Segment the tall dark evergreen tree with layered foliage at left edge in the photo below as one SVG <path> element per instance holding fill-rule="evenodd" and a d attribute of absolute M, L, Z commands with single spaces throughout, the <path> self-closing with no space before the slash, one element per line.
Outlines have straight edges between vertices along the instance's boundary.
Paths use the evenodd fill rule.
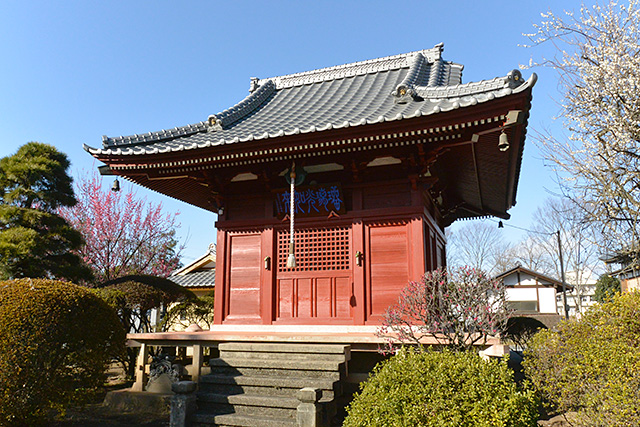
<path fill-rule="evenodd" d="M 0 159 L 0 279 L 91 278 L 74 253 L 82 235 L 56 213 L 76 204 L 69 165 L 65 154 L 39 142 Z"/>

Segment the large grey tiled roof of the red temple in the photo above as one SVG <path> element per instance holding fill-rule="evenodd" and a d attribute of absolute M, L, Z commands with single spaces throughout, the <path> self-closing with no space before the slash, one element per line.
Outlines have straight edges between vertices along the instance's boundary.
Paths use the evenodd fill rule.
<path fill-rule="evenodd" d="M 93 155 L 142 155 L 247 143 L 437 114 L 530 88 L 520 72 L 462 84 L 462 65 L 442 60 L 443 45 L 402 55 L 268 79 L 205 121 L 142 135 L 103 137 Z"/>

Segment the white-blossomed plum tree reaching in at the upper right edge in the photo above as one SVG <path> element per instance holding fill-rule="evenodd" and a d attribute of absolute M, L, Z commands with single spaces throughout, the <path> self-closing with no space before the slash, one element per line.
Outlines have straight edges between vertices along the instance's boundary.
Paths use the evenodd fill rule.
<path fill-rule="evenodd" d="M 558 72 L 568 138 L 540 135 L 564 192 L 605 236 L 606 250 L 640 250 L 640 1 L 542 15 L 530 34 L 557 55 L 537 61 Z"/>

